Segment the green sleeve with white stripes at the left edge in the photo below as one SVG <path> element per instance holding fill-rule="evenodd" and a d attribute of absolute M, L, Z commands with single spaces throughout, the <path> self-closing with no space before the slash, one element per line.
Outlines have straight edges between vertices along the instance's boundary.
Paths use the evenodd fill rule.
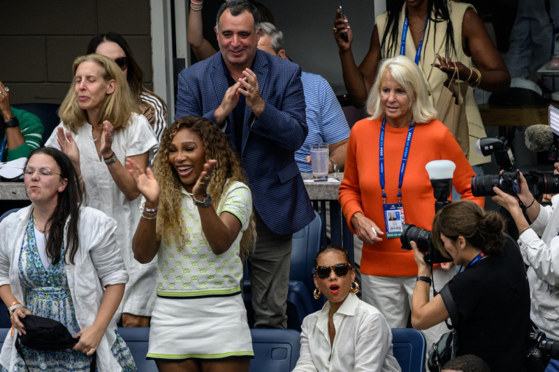
<path fill-rule="evenodd" d="M 41 119 L 31 114 L 31 112 L 19 110 L 15 107 L 10 108 L 13 116 L 17 117 L 17 120 L 20 121 L 20 131 L 25 142 L 15 149 L 8 149 L 8 161 L 17 158 L 27 158 L 31 151 L 41 147 L 43 144 L 43 131 L 45 131 Z"/>

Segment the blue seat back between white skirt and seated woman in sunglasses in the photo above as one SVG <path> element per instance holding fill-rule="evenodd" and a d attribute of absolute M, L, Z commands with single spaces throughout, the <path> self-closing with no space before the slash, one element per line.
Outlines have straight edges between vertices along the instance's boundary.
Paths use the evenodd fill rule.
<path fill-rule="evenodd" d="M 250 372 L 289 372 L 295 368 L 299 359 L 299 332 L 293 329 L 251 329 L 250 334 L 254 350 Z"/>

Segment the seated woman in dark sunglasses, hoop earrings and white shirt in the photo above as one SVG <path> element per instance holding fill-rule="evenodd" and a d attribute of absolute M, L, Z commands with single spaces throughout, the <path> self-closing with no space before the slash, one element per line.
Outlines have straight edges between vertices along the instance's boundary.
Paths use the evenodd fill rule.
<path fill-rule="evenodd" d="M 303 320 L 300 357 L 293 372 L 400 371 L 392 354 L 392 333 L 377 308 L 358 299 L 355 269 L 340 246 L 314 258 L 314 297 L 322 310 Z"/>

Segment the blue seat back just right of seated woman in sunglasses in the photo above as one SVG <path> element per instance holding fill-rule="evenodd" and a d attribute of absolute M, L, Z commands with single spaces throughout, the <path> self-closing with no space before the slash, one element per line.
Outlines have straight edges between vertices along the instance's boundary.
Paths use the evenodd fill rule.
<path fill-rule="evenodd" d="M 425 370 L 427 342 L 421 332 L 412 328 L 393 328 L 392 350 L 402 372 Z"/>

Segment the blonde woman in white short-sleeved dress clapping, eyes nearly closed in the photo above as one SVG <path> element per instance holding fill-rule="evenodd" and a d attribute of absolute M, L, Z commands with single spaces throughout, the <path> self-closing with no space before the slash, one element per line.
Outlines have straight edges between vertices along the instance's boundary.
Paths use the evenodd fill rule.
<path fill-rule="evenodd" d="M 156 262 L 133 258 L 132 237 L 140 221 L 140 191 L 124 167 L 126 159 L 147 167 L 157 146 L 120 68 L 100 54 L 78 57 L 74 80 L 59 109 L 61 124 L 45 146 L 68 155 L 85 186 L 85 204 L 118 222 L 117 244 L 130 276 L 122 306 L 124 327 L 147 327 L 155 301 Z"/>

